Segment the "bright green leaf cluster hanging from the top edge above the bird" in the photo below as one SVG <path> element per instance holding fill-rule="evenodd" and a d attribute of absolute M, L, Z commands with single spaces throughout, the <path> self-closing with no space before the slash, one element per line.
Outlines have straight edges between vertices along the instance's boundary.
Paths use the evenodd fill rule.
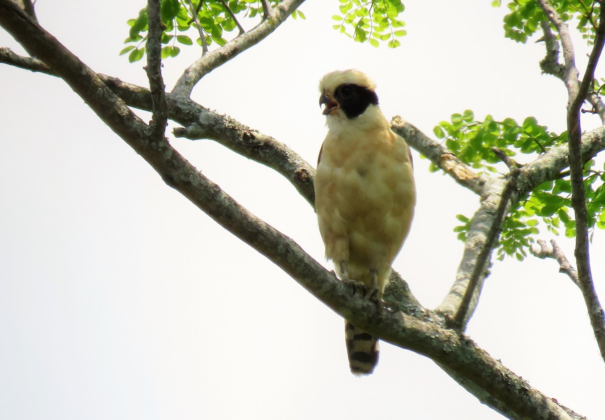
<path fill-rule="evenodd" d="M 333 15 L 338 21 L 333 28 L 358 42 L 369 42 L 378 47 L 379 41 L 388 41 L 389 48 L 401 45 L 398 37 L 404 36 L 405 22 L 399 14 L 405 10 L 401 0 L 339 0 L 341 15 Z M 349 30 L 351 33 L 349 33 Z"/>

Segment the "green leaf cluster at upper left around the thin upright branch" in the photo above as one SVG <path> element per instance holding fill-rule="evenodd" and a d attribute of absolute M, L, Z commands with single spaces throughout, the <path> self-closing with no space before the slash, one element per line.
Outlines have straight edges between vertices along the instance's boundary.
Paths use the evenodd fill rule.
<path fill-rule="evenodd" d="M 270 0 L 270 5 L 278 4 L 279 0 Z M 198 45 L 224 45 L 227 39 L 225 33 L 238 27 L 235 16 L 256 18 L 262 15 L 263 6 L 260 0 L 162 0 L 162 58 L 176 57 L 181 45 L 193 45 L 194 40 L 189 30 L 195 30 L 194 37 Z M 301 12 L 296 13 L 304 19 Z M 293 16 L 296 17 L 296 16 Z M 136 19 L 129 19 L 130 30 L 125 44 L 130 44 L 120 51 L 120 55 L 128 54 L 128 61 L 139 61 L 145 56 L 149 17 L 147 8 L 139 11 Z M 203 38 L 202 38 L 203 37 Z"/>

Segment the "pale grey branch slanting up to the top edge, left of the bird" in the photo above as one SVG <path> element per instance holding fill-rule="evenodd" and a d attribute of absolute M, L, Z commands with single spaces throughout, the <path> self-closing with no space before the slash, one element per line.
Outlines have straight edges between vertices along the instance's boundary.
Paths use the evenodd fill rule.
<path fill-rule="evenodd" d="M 286 0 L 280 5 L 270 10 L 269 18 L 261 22 L 260 25 L 247 31 L 241 36 L 227 42 L 220 48 L 205 54 L 194 62 L 183 75 L 178 79 L 172 93 L 179 96 L 189 96 L 191 91 L 201 80 L 202 77 L 210 73 L 215 68 L 231 60 L 233 57 L 246 51 L 258 42 L 263 41 L 269 34 L 277 29 L 288 16 L 292 14 L 304 0 Z"/>

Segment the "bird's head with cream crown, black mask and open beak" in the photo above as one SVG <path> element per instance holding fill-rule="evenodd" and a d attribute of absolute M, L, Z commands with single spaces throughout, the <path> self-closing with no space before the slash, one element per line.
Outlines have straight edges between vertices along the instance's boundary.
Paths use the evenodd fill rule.
<path fill-rule="evenodd" d="M 354 119 L 370 105 L 378 105 L 375 88 L 376 84 L 361 71 L 332 71 L 319 81 L 319 106 L 325 105 L 325 116 Z"/>

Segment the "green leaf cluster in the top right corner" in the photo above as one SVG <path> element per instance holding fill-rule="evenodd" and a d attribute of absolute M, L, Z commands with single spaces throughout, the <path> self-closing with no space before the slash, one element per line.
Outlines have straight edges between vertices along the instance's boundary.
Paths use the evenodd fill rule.
<path fill-rule="evenodd" d="M 499 7 L 502 0 L 492 1 Z M 589 0 L 551 0 L 552 6 L 564 22 L 577 21 L 576 28 L 589 45 L 594 44 L 595 28 L 600 11 L 599 1 Z M 510 13 L 504 17 L 506 38 L 525 44 L 540 27 L 540 22 L 548 21 L 536 0 L 515 0 L 509 2 Z"/>

